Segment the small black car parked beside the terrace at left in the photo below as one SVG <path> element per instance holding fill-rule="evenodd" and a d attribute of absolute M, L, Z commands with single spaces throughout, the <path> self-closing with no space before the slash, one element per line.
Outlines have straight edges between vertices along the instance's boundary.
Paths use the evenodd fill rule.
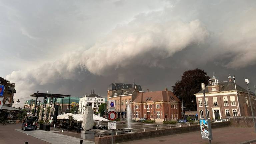
<path fill-rule="evenodd" d="M 24 131 L 29 129 L 36 130 L 37 122 L 38 122 L 37 116 L 29 116 L 25 119 L 24 123 L 22 123 L 21 129 Z"/>

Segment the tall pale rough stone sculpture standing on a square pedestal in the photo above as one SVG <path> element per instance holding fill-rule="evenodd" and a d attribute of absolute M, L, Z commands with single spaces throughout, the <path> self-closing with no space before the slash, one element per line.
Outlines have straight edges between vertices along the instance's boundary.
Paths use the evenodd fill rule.
<path fill-rule="evenodd" d="M 83 116 L 83 129 L 85 131 L 91 130 L 94 126 L 93 122 L 93 110 L 90 103 L 85 106 L 85 112 Z"/>

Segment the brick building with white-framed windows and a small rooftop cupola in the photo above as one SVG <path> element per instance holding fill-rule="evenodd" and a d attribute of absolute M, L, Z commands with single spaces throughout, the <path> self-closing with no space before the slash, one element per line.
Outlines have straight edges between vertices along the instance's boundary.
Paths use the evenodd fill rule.
<path fill-rule="evenodd" d="M 194 95 L 197 101 L 198 118 L 203 119 L 205 116 L 203 92 L 201 90 Z M 251 93 L 251 95 L 254 98 L 252 102 L 255 102 L 254 93 Z M 223 119 L 229 116 L 252 116 L 247 90 L 237 84 L 235 85 L 231 76 L 228 77 L 228 81 L 219 82 L 213 75 L 209 79 L 209 85 L 205 87 L 205 97 L 208 118 L 210 119 Z"/>

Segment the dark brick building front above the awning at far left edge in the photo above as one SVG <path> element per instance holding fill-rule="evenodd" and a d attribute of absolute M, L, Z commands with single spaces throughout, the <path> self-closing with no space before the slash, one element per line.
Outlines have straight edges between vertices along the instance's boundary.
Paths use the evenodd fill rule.
<path fill-rule="evenodd" d="M 12 106 L 14 103 L 14 93 L 16 93 L 16 90 L 14 89 L 15 83 L 11 83 L 10 81 L 0 77 L 0 85 L 4 85 L 3 106 Z"/>

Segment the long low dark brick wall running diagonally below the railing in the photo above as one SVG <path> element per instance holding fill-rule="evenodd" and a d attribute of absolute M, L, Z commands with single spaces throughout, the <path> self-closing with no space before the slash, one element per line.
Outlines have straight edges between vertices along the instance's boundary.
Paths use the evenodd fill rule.
<path fill-rule="evenodd" d="M 230 126 L 230 121 L 212 123 L 211 126 L 212 128 Z M 187 132 L 194 132 L 194 131 L 200 131 L 200 126 L 192 125 L 192 126 L 186 126 L 186 127 L 176 127 L 171 129 L 137 132 L 132 134 L 121 134 L 121 135 L 113 136 L 113 143 L 120 143 L 125 141 L 132 141 L 132 140 L 138 140 L 138 139 L 144 139 L 144 138 L 152 138 L 152 137 L 159 137 L 159 136 L 173 135 L 173 134 L 187 133 Z M 111 144 L 111 135 L 104 136 L 104 137 L 95 137 L 95 144 Z"/>

